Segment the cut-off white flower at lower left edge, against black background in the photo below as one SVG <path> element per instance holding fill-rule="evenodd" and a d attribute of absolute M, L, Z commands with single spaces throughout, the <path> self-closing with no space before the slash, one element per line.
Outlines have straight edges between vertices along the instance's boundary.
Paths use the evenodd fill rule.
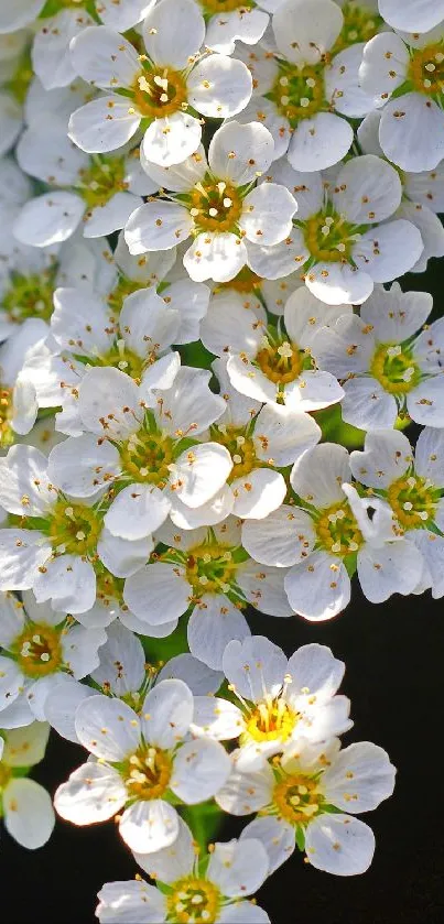
<path fill-rule="evenodd" d="M 46 790 L 23 776 L 24 768 L 43 760 L 48 733 L 48 725 L 33 722 L 0 737 L 0 814 L 11 837 L 29 850 L 46 844 L 55 822 Z"/>

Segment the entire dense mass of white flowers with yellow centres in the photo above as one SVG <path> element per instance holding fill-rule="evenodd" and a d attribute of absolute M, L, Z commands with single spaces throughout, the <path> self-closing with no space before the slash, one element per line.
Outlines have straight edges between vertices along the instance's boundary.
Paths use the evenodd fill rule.
<path fill-rule="evenodd" d="M 101 924 L 371 863 L 396 770 L 255 611 L 444 596 L 444 319 L 397 281 L 444 257 L 443 108 L 442 0 L 1 4 L 0 817 L 42 846 L 83 747 L 54 808 L 147 877 Z"/>

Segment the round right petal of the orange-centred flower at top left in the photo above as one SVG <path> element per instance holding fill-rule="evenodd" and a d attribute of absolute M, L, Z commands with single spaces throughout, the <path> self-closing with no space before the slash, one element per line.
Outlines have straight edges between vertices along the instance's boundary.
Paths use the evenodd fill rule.
<path fill-rule="evenodd" d="M 193 68 L 187 86 L 189 102 L 198 112 L 207 118 L 227 119 L 249 102 L 252 79 L 241 61 L 217 54 Z"/>

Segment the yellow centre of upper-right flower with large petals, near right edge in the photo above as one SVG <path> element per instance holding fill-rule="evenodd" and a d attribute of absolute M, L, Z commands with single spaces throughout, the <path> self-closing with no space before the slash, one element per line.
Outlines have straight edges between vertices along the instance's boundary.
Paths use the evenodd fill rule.
<path fill-rule="evenodd" d="M 334 210 L 320 211 L 302 226 L 306 247 L 318 263 L 346 263 L 357 240 L 353 226 Z"/>

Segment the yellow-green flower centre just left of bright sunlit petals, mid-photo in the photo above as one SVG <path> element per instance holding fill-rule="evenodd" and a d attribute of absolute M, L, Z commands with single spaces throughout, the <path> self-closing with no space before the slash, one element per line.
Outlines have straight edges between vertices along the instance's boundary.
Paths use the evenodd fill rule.
<path fill-rule="evenodd" d="M 123 445 L 120 458 L 123 471 L 134 481 L 164 488 L 173 464 L 173 441 L 155 430 L 140 430 Z"/>

